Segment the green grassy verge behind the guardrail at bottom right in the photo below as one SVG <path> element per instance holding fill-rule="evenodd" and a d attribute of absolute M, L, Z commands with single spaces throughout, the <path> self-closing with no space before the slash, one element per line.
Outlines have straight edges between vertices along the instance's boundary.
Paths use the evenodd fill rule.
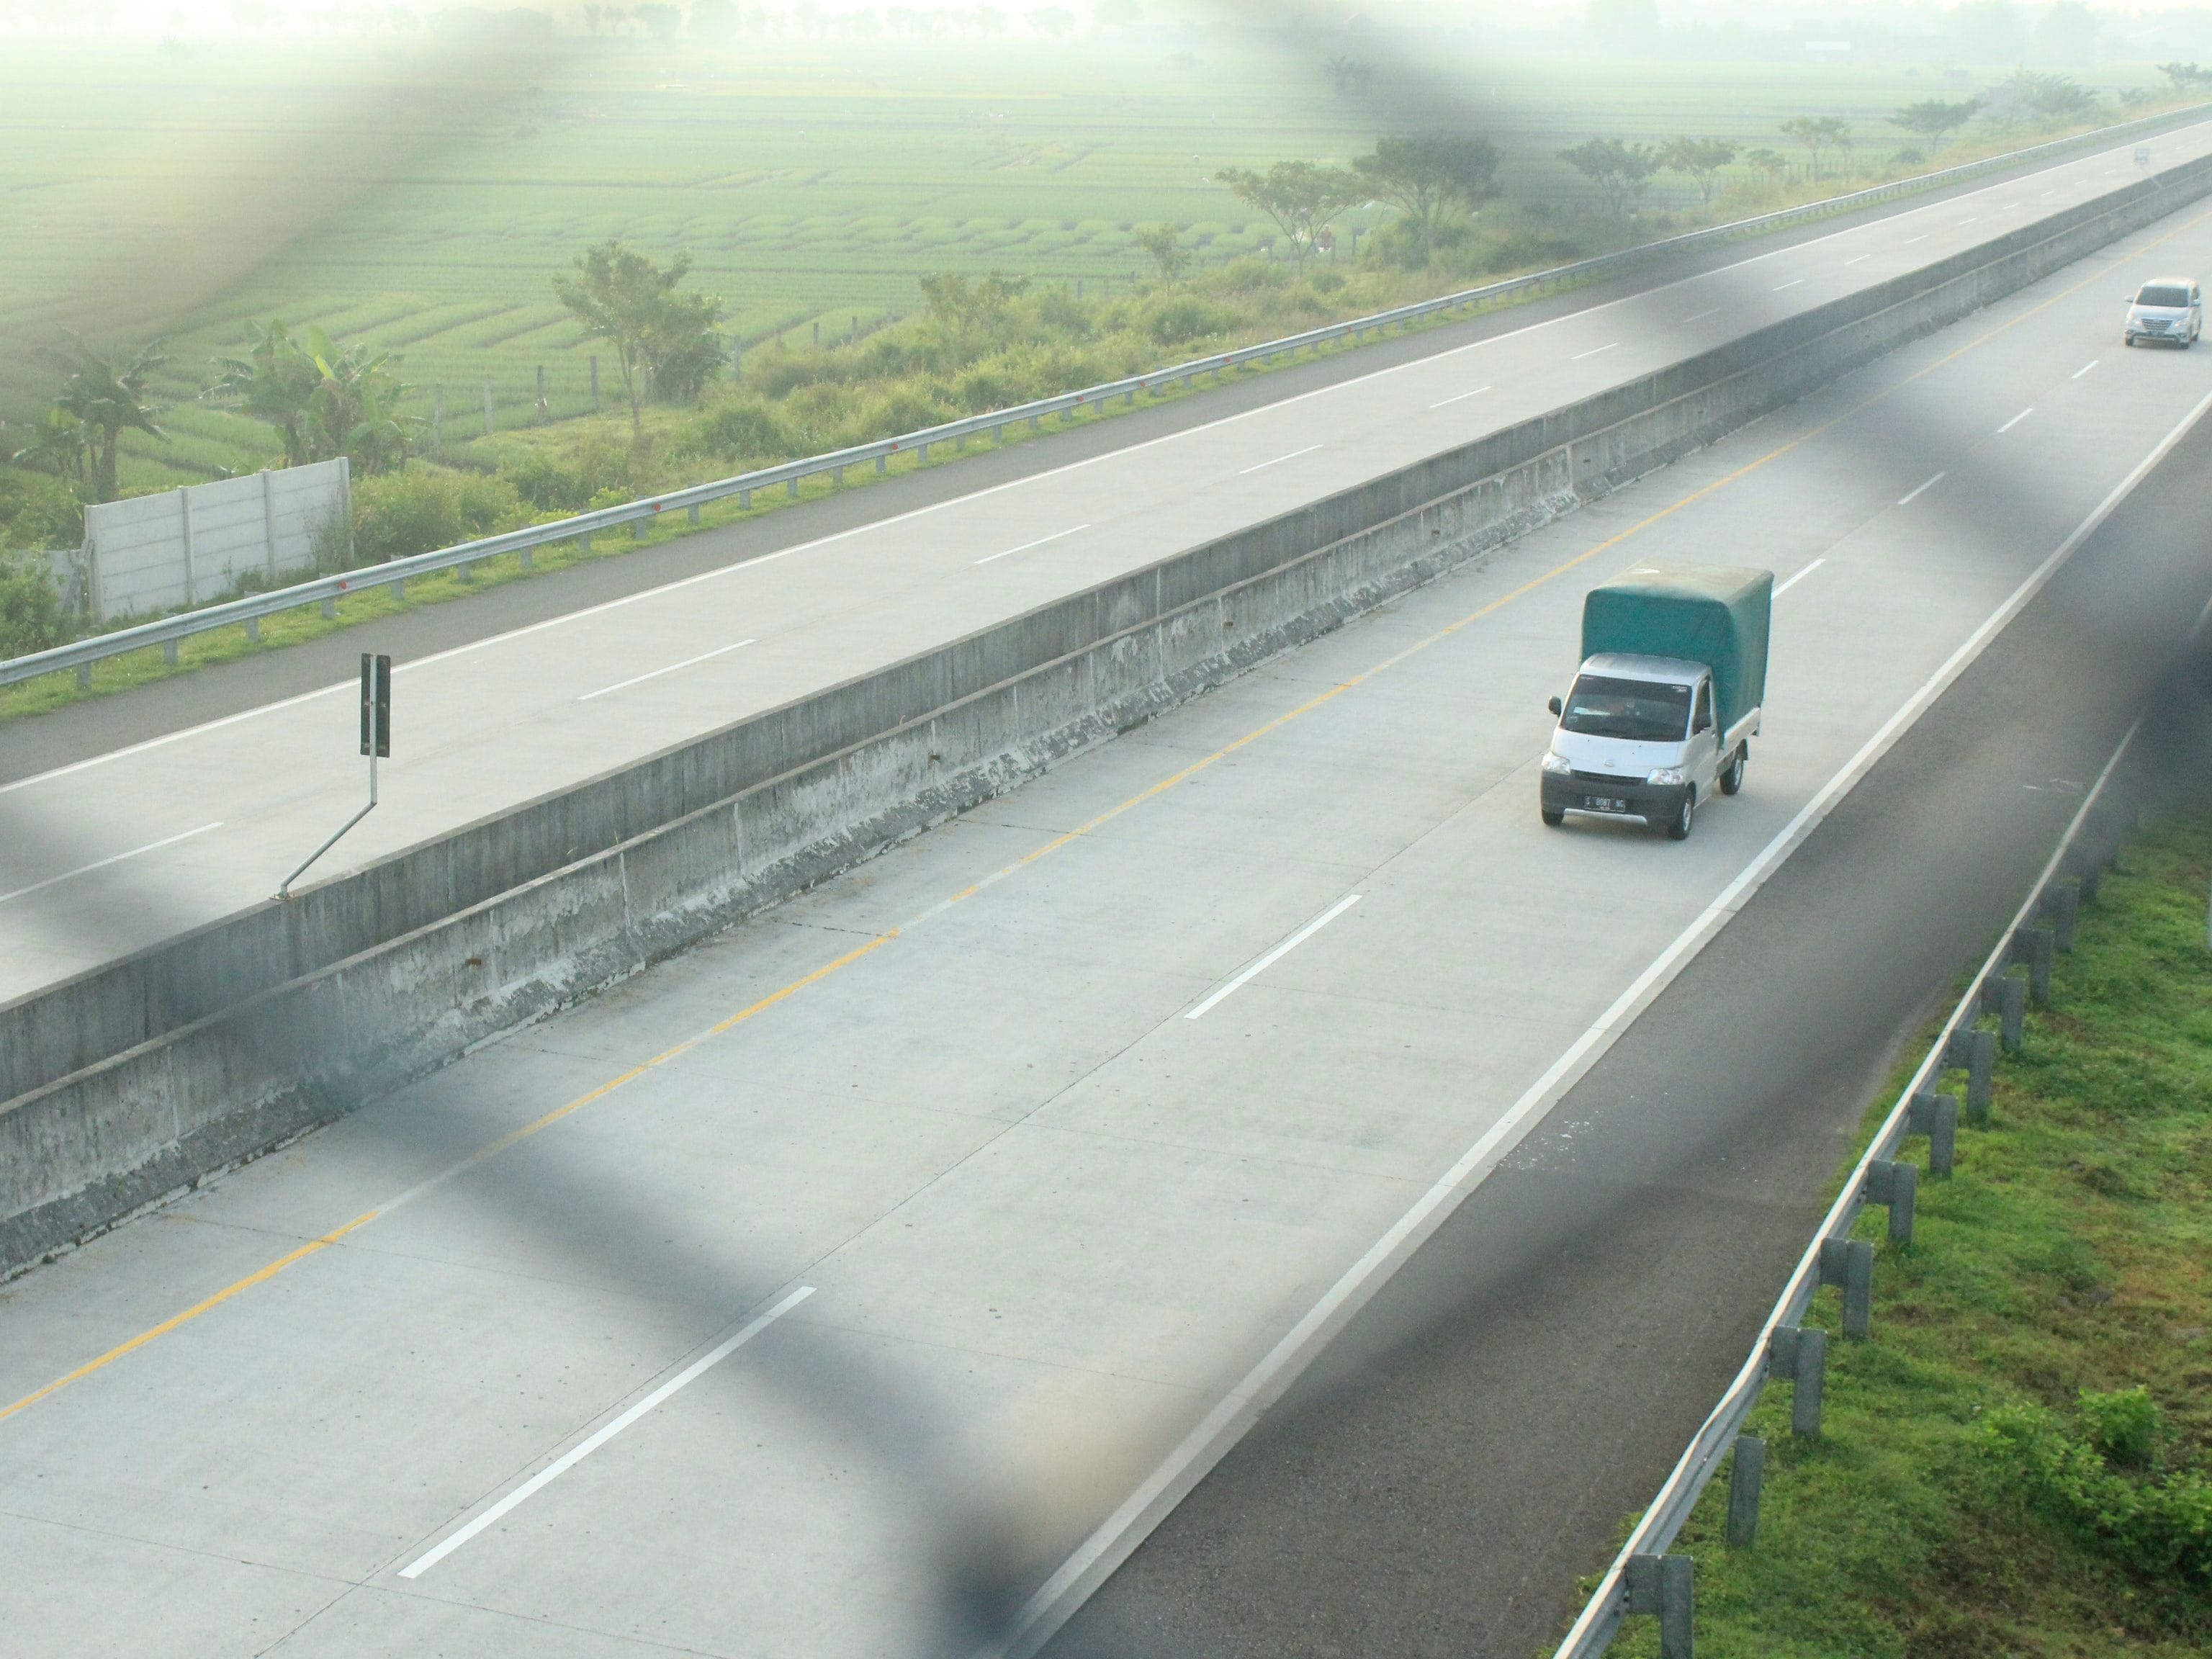
<path fill-rule="evenodd" d="M 2208 878 L 2212 799 L 2152 816 L 1989 1126 L 1920 1188 L 1916 1243 L 1878 1245 L 1874 1340 L 1832 1340 L 1823 1438 L 1767 1389 L 1756 1546 L 1723 1544 L 1725 1478 L 1677 1544 L 1701 1659 L 2212 1650 Z M 1613 1650 L 1655 1655 L 1655 1626 Z"/>

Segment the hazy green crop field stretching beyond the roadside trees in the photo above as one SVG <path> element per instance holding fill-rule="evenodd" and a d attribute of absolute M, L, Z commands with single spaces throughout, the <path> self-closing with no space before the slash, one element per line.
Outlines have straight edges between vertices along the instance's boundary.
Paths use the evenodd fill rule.
<path fill-rule="evenodd" d="M 1146 265 L 1137 230 L 1161 221 L 1221 263 L 1261 250 L 1272 226 L 1217 168 L 1345 161 L 1407 108 L 1387 66 L 1369 95 L 1334 93 L 1323 51 L 1256 35 L 1177 49 L 560 40 L 524 55 L 11 40 L 0 440 L 51 394 L 35 347 L 58 343 L 60 323 L 100 341 L 168 336 L 170 438 L 131 438 L 133 491 L 268 456 L 263 427 L 192 403 L 248 319 L 400 354 L 411 411 L 429 416 L 442 394 L 449 442 L 482 434 L 487 383 L 500 427 L 538 418 L 540 374 L 551 418 L 588 411 L 599 347 L 551 276 L 606 237 L 690 250 L 695 285 L 723 296 L 739 341 L 794 347 L 911 310 L 929 270 L 1119 288 Z M 1422 73 L 1422 95 L 1449 86 L 1455 119 L 1506 153 L 1498 212 L 1559 219 L 1593 204 L 1555 150 L 1593 135 L 1787 148 L 1778 122 L 1843 115 L 1867 166 L 1911 142 L 1885 113 L 2006 71 L 1511 62 L 1438 38 Z M 1646 217 L 1692 199 L 1668 179 Z M 617 398 L 611 358 L 602 396 Z"/>

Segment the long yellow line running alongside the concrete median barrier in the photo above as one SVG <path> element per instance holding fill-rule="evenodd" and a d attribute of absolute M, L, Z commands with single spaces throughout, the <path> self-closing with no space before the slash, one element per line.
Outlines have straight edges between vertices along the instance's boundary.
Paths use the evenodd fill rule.
<path fill-rule="evenodd" d="M 2172 241 L 2174 237 L 2183 234 L 2185 230 L 2194 230 L 2205 219 L 2212 219 L 2212 210 L 2201 212 L 2194 219 L 2190 219 L 2188 223 L 2181 223 L 2181 226 L 2172 228 L 2163 237 L 2146 243 L 2139 252 L 2148 254 L 2152 248 L 2159 248 L 2159 246 Z M 1882 392 L 1876 392 L 1876 394 L 1863 398 L 1860 403 L 1854 403 L 1849 409 L 1843 409 L 1840 414 L 1823 420 L 1820 425 L 1816 425 L 1816 427 L 1798 434 L 1790 442 L 1776 445 L 1774 449 L 1770 449 L 1767 453 L 1759 456 L 1756 460 L 1750 460 L 1743 467 L 1736 467 L 1736 471 L 1732 471 L 1732 473 L 1728 473 L 1723 478 L 1717 478 L 1710 484 L 1701 484 L 1699 489 L 1692 489 L 1688 495 L 1681 495 L 1679 500 L 1668 502 L 1666 507 L 1661 507 L 1659 511 L 1650 513 L 1648 518 L 1641 518 L 1635 524 L 1630 524 L 1628 529 L 1608 535 L 1604 542 L 1597 542 L 1595 546 L 1584 549 L 1575 557 L 1564 560 L 1562 564 L 1555 564 L 1553 568 L 1544 571 L 1542 575 L 1528 577 L 1526 582 L 1522 582 L 1511 593 L 1504 593 L 1504 595 L 1491 599 L 1489 604 L 1484 604 L 1484 606 L 1480 606 L 1475 611 L 1469 611 L 1458 622 L 1444 624 L 1442 628 L 1438 628 L 1436 633 L 1431 633 L 1427 639 L 1416 639 L 1411 646 L 1407 646 L 1405 650 L 1398 650 L 1391 657 L 1385 657 L 1374 668 L 1367 668 L 1367 670 L 1363 670 L 1358 675 L 1352 675 L 1349 679 L 1338 681 L 1329 690 L 1325 690 L 1325 692 L 1321 692 L 1316 697 L 1310 697 L 1303 703 L 1298 703 L 1296 708 L 1290 708 L 1290 710 L 1276 714 L 1267 723 L 1254 726 L 1243 737 L 1239 737 L 1239 739 L 1234 739 L 1230 743 L 1223 743 L 1212 754 L 1208 754 L 1208 757 L 1203 757 L 1199 761 L 1192 761 L 1190 765 L 1181 768 L 1179 772 L 1170 772 L 1168 776 L 1159 779 L 1159 783 L 1152 783 L 1152 785 L 1139 790 L 1137 794 L 1133 794 L 1128 801 L 1121 801 L 1119 805 L 1106 807 L 1106 812 L 1099 812 L 1095 818 L 1088 818 L 1088 821 L 1079 823 L 1077 827 L 1068 830 L 1066 834 L 1053 836 L 1051 841 L 1046 841 L 1035 852 L 1022 854 L 1011 865 L 993 872 L 991 876 L 987 876 L 987 878 L 982 878 L 978 883 L 971 883 L 969 887 L 962 887 L 958 894 L 953 894 L 951 898 L 942 900 L 933 909 L 949 909 L 951 905 L 958 905 L 958 902 L 962 902 L 967 898 L 973 898 L 984 887 L 998 883 L 1004 876 L 1011 876 L 1013 872 L 1022 869 L 1024 865 L 1033 865 L 1040 858 L 1044 858 L 1044 856 L 1048 856 L 1053 852 L 1060 852 L 1068 843 L 1082 841 L 1093 830 L 1110 823 L 1113 818 L 1119 818 L 1124 812 L 1130 812 L 1133 807 L 1139 807 L 1146 801 L 1152 801 L 1155 796 L 1166 794 L 1177 783 L 1186 783 L 1188 779 L 1197 776 L 1199 772 L 1203 772 L 1206 768 L 1214 765 L 1217 761 L 1228 759 L 1237 750 L 1248 748 L 1250 743 L 1256 743 L 1259 739 L 1267 737 L 1270 732 L 1279 732 L 1281 728 L 1290 726 L 1294 719 L 1312 714 L 1316 708 L 1321 708 L 1323 703 L 1336 701 L 1347 690 L 1352 690 L 1356 686 L 1365 686 L 1376 675 L 1380 675 L 1380 672 L 1385 672 L 1389 668 L 1396 668 L 1398 664 L 1407 661 L 1409 657 L 1416 657 L 1422 650 L 1427 650 L 1429 646 L 1436 646 L 1436 644 L 1449 639 L 1451 635 L 1455 635 L 1462 628 L 1480 622 L 1482 617 L 1489 617 L 1489 615 L 1502 611 L 1504 606 L 1513 604 L 1515 599 L 1522 599 L 1528 593 L 1535 593 L 1537 588 L 1546 586 L 1548 582 L 1566 575 L 1568 571 L 1573 571 L 1573 568 L 1577 568 L 1582 564 L 1588 564 L 1599 553 L 1604 553 L 1608 549 L 1615 549 L 1621 542 L 1630 540 L 1632 535 L 1639 535 L 1639 533 L 1648 531 L 1652 524 L 1657 524 L 1657 522 L 1661 522 L 1666 518 L 1672 518 L 1674 513 L 1679 513 L 1686 507 L 1692 507 L 1692 504 L 1701 502 L 1705 495 L 1712 495 L 1714 491 L 1725 489 L 1728 484 L 1734 484 L 1739 478 L 1745 478 L 1745 476 L 1759 471 L 1767 462 L 1781 460 L 1792 449 L 1801 449 L 1803 445 L 1812 442 L 1814 438 L 1820 438 L 1823 434 L 1834 431 L 1838 425 L 1843 425 L 1851 416 L 1865 414 L 1867 409 L 1871 409 L 1882 398 L 1889 398 L 1896 392 L 1913 385 L 1916 380 L 1933 374 L 1936 369 L 1947 367 L 1949 363 L 1955 363 L 1958 358 L 1966 356 L 1969 352 L 1973 352 L 1973 349 L 1986 345 L 1989 341 L 1997 338 L 2006 330 L 2017 327 L 2020 323 L 2028 321 L 2031 316 L 2037 316 L 2039 312 L 2051 310 L 2062 299 L 2070 299 L 2070 296 L 2079 294 L 2084 288 L 2088 288 L 2090 283 L 2104 281 L 2104 276 L 2106 276 L 2104 272 L 2097 272 L 2093 276 L 2084 276 L 2073 288 L 2066 288 L 2066 290 L 2053 294 L 2051 299 L 2042 301 L 2039 305 L 2033 305 L 2031 310 L 2022 312 L 2020 316 L 2015 316 L 2015 319 L 2011 319 L 2006 323 L 2000 323 L 1997 327 L 1986 330 L 1984 334 L 1978 334 L 1975 338 L 1966 341 L 1958 349 L 1947 352 L 1944 356 L 1936 358 L 1927 367 L 1913 369 L 1911 374 L 1907 374 L 1896 385 L 1889 385 Z M 80 1365 L 75 1371 L 69 1371 L 66 1376 L 58 1376 L 46 1387 L 42 1387 L 42 1389 L 33 1391 L 33 1394 L 27 1394 L 20 1400 L 15 1400 L 15 1405 L 0 1407 L 0 1420 L 7 1420 L 11 1416 L 15 1416 L 18 1411 L 24 1411 L 27 1407 L 38 1405 L 49 1394 L 66 1389 L 71 1383 L 77 1383 L 77 1380 L 91 1376 L 93 1371 L 100 1371 L 106 1365 L 113 1365 L 115 1360 L 119 1360 L 124 1354 L 131 1354 L 133 1349 L 139 1349 L 146 1343 L 153 1343 L 159 1336 L 168 1336 L 179 1325 L 186 1325 L 186 1323 L 199 1318 L 201 1314 L 206 1314 L 206 1312 L 210 1312 L 215 1307 L 221 1307 L 226 1301 L 230 1301 L 239 1292 L 250 1290 L 252 1285 L 259 1285 L 259 1283 L 263 1283 L 268 1279 L 274 1279 L 285 1267 L 290 1267 L 294 1261 L 305 1261 L 307 1256 L 312 1256 L 312 1254 L 316 1254 L 321 1250 L 327 1250 L 330 1245 L 338 1243 L 345 1234 L 354 1232 L 356 1228 L 363 1228 L 369 1221 L 376 1221 L 378 1217 L 389 1214 L 400 1203 L 405 1203 L 405 1201 L 409 1201 L 409 1199 L 427 1192 L 429 1188 L 442 1186 L 445 1181 L 453 1179 L 456 1175 L 462 1175 L 465 1170 L 471 1170 L 478 1164 L 482 1164 L 482 1161 L 487 1161 L 491 1157 L 498 1157 L 507 1148 L 511 1148 L 511 1146 L 515 1146 L 520 1141 L 531 1139 L 533 1135 L 542 1133 L 542 1130 L 551 1128 L 553 1124 L 557 1124 L 560 1119 L 568 1117 L 571 1113 L 580 1113 L 584 1106 L 591 1106 L 593 1102 L 604 1099 L 606 1095 L 615 1093 L 624 1084 L 635 1082 L 637 1077 L 644 1077 L 650 1071 L 659 1071 L 668 1062 L 672 1062 L 672 1060 L 690 1053 L 692 1048 L 697 1048 L 708 1037 L 717 1037 L 717 1035 L 730 1031 L 732 1026 L 741 1026 L 745 1020 L 752 1020 L 754 1015 L 765 1013 L 768 1009 L 776 1006 L 785 998 L 799 995 L 810 984 L 816 984 L 818 980 L 827 980 L 832 973 L 838 973 L 841 969 L 849 967 L 852 962 L 858 962 L 863 956 L 869 956 L 872 951 L 878 951 L 885 945 L 889 945 L 894 938 L 900 938 L 900 933 L 902 933 L 902 929 L 898 929 L 898 927 L 891 927 L 891 929 L 878 933 L 876 938 L 867 940 L 865 945 L 860 945 L 860 947 L 856 947 L 852 951 L 845 951 L 843 956 L 838 956 L 838 958 L 834 958 L 830 962 L 823 962 L 812 973 L 805 973 L 805 975 L 792 980 L 783 989 L 770 991 L 759 1002 L 750 1002 L 748 1006 L 739 1009 L 737 1013 L 728 1015 L 726 1020 L 708 1026 L 697 1037 L 686 1037 L 684 1042 L 675 1044 L 672 1048 L 664 1048 L 661 1053 L 653 1055 L 650 1060 L 639 1062 L 637 1066 L 630 1066 L 628 1071 L 624 1071 L 624 1073 L 619 1073 L 615 1077 L 608 1077 L 597 1088 L 593 1088 L 593 1091 L 588 1091 L 584 1095 L 577 1095 L 566 1106 L 557 1106 L 555 1110 L 546 1113 L 544 1117 L 538 1117 L 538 1119 L 524 1124 L 522 1128 L 509 1130 L 507 1135 L 500 1135 L 498 1139 L 480 1146 L 476 1152 L 471 1152 L 469 1157 L 465 1157 L 460 1164 L 453 1164 L 451 1168 L 447 1168 L 440 1175 L 431 1177 L 422 1186 L 409 1188 L 407 1192 L 403 1192 L 392 1203 L 385 1203 L 385 1206 L 380 1206 L 376 1210 L 369 1210 L 367 1214 L 354 1217 L 352 1221 L 347 1221 L 336 1232 L 325 1232 L 321 1239 L 312 1239 L 312 1241 L 303 1243 L 299 1250 L 292 1250 L 290 1254 L 279 1256 L 276 1261 L 268 1263 L 265 1267 L 259 1267 L 259 1270 L 250 1272 L 246 1279 L 239 1279 L 232 1285 L 226 1285 L 223 1290 L 215 1292 L 206 1301 L 192 1303 L 181 1314 L 175 1314 L 175 1316 L 161 1321 L 153 1329 L 139 1332 L 128 1343 L 117 1343 L 115 1347 L 111 1347 L 100 1358 L 86 1360 L 84 1365 Z"/>

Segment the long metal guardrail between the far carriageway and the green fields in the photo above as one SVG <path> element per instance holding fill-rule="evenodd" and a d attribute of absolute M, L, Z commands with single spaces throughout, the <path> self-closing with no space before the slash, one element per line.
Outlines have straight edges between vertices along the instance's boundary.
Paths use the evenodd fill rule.
<path fill-rule="evenodd" d="M 1418 321 L 1442 316 L 1464 307 L 1480 307 L 1491 301 L 1511 299 L 1513 294 L 1526 294 L 1540 288 L 1564 288 L 1568 283 L 1588 281 L 1595 276 L 1606 276 L 1613 272 L 1628 270 L 1646 259 L 1663 259 L 1668 254 L 1688 252 L 1692 248 L 1703 248 L 1708 243 L 1734 241 L 1739 237 L 1756 237 L 1770 230 L 1785 230 L 1796 223 L 1812 219 L 1825 219 L 1838 212 L 1851 212 L 1854 208 L 1874 206 L 1878 201 L 1891 201 L 1900 195 L 1918 195 L 1922 190 L 1938 190 L 1947 184 L 1978 177 L 1982 173 L 1997 173 L 2004 168 L 2022 166 L 2037 157 L 2051 157 L 2062 150 L 2084 150 L 2099 148 L 2115 139 L 2128 135 L 2148 133 L 2150 128 L 2166 128 L 2174 124 L 2188 124 L 2192 119 L 2212 115 L 2212 104 L 2192 104 L 2179 111 L 2166 111 L 2163 115 L 2146 115 L 2139 122 L 2121 122 L 2117 126 L 2101 126 L 2095 133 L 2077 133 L 2075 137 L 2053 139 L 2051 144 L 2031 144 L 2024 150 L 2006 150 L 2004 155 L 1991 155 L 1980 161 L 1964 161 L 1955 168 L 1940 168 L 1936 173 L 1920 173 L 1909 179 L 1896 179 L 1891 184 L 1878 184 L 1867 190 L 1851 190 L 1840 197 L 1827 197 L 1823 201 L 1807 201 L 1796 208 L 1781 208 L 1778 212 L 1763 212 L 1752 219 L 1732 219 L 1725 226 L 1708 226 L 1705 230 L 1688 230 L 1679 237 L 1663 237 L 1659 241 L 1646 241 L 1635 248 L 1621 248 L 1619 252 L 1597 254 L 1593 259 L 1577 259 L 1571 265 L 1555 265 L 1551 270 L 1528 272 L 1524 276 L 1509 276 L 1498 283 L 1484 283 L 1482 288 L 1467 288 L 1455 294 L 1442 294 L 1438 299 L 1416 301 L 1411 305 L 1398 305 L 1387 312 L 1374 312 L 1371 316 L 1356 316 L 1347 323 L 1329 323 L 1325 327 L 1305 330 L 1303 334 L 1285 334 L 1276 341 L 1263 341 L 1259 345 L 1241 345 L 1232 352 L 1214 352 L 1212 356 L 1190 358 L 1188 363 L 1175 363 L 1164 369 L 1152 369 L 1150 374 L 1137 374 L 1124 380 L 1106 380 L 1102 385 L 1084 387 L 1082 392 L 1062 392 L 1051 398 L 1037 398 L 1035 403 L 1022 403 L 1011 409 L 995 409 L 991 414 L 967 416 L 962 420 L 947 420 L 938 427 L 922 427 L 920 431 L 909 431 L 898 438 L 878 438 L 876 442 L 854 445 L 852 449 L 834 449 L 823 456 L 807 456 L 803 460 L 787 460 L 776 467 L 763 467 L 759 471 L 739 473 L 734 478 L 721 478 L 712 484 L 690 484 L 688 489 L 672 489 L 664 495 L 646 495 L 635 502 L 624 502 L 622 507 L 602 507 L 593 513 L 577 513 L 575 518 L 553 520 L 549 524 L 531 524 L 520 531 L 502 531 L 500 535 L 484 535 L 476 542 L 460 542 L 458 546 L 438 549 L 431 553 L 414 553 L 403 560 L 389 560 L 385 564 L 369 564 L 358 571 L 341 571 L 336 575 L 314 577 L 312 582 L 296 582 L 285 588 L 272 588 L 268 593 L 254 593 L 243 599 L 228 599 L 223 604 L 199 606 L 197 611 L 181 611 L 173 617 L 157 617 L 153 622 L 142 622 L 131 628 L 117 628 L 113 633 L 93 635 L 88 639 L 77 639 L 66 646 L 55 646 L 51 650 L 38 650 L 29 657 L 13 657 L 0 661 L 0 686 L 13 686 L 24 679 L 35 679 L 40 675 L 53 675 L 75 668 L 77 681 L 88 686 L 93 664 L 104 657 L 119 657 L 128 650 L 144 650 L 148 646 L 166 646 L 170 659 L 175 659 L 177 641 L 188 639 L 197 633 L 210 633 L 215 628 L 246 626 L 246 630 L 259 637 L 261 619 L 274 617 L 283 611 L 296 611 L 301 606 L 321 604 L 325 615 L 334 615 L 336 602 L 347 593 L 358 593 L 363 588 L 396 586 L 405 584 L 418 575 L 431 575 L 436 571 L 451 571 L 456 566 L 478 564 L 482 560 L 498 557 L 502 553 L 522 553 L 529 562 L 529 551 L 538 546 L 549 546 L 553 542 L 591 542 L 593 535 L 624 524 L 646 524 L 661 513 L 686 511 L 692 522 L 699 520 L 699 509 L 708 502 L 739 498 L 739 504 L 750 507 L 752 493 L 759 489 L 774 489 L 783 484 L 787 493 L 799 493 L 799 482 L 803 478 L 818 478 L 830 473 L 843 480 L 847 467 L 865 467 L 874 462 L 876 471 L 885 471 L 894 456 L 914 453 L 920 460 L 929 460 L 929 451 L 936 445 L 964 447 L 969 438 L 991 436 L 993 440 L 1004 438 L 1004 429 L 1026 420 L 1031 427 L 1040 427 L 1046 416 L 1060 416 L 1062 420 L 1073 420 L 1077 411 L 1086 405 L 1104 407 L 1113 398 L 1124 398 L 1128 403 L 1137 400 L 1139 392 L 1161 394 L 1168 387 L 1181 383 L 1190 385 L 1201 374 L 1212 374 L 1219 378 L 1228 369 L 1241 369 L 1250 363 L 1265 363 L 1285 354 L 1296 354 L 1303 349 L 1321 349 L 1338 341 L 1360 341 L 1369 332 L 1385 332 L 1391 327 L 1409 327 Z"/>

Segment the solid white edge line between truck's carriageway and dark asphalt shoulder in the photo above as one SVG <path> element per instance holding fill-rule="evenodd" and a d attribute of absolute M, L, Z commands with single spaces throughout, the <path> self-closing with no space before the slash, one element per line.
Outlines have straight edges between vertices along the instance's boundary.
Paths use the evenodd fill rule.
<path fill-rule="evenodd" d="M 2157 449 L 2128 471 L 2112 493 L 2106 495 L 2073 535 L 2059 542 L 2013 593 L 2000 604 L 1966 641 L 1944 659 L 1942 668 L 1922 681 L 1920 690 L 1891 714 L 1882 728 L 1867 739 L 1840 772 L 1836 772 L 1812 801 L 1807 801 L 1781 834 L 1776 834 L 1745 867 L 1721 889 L 1721 894 L 1699 911 L 1674 942 L 1646 967 L 1635 982 L 1615 998 L 1542 1077 L 1537 1077 L 1517 1102 L 1478 1139 L 1458 1164 L 1436 1179 L 1413 1206 L 1385 1232 L 1329 1290 L 1307 1310 L 1265 1358 L 1259 1360 L 1199 1425 L 1183 1436 L 1181 1444 L 1146 1475 L 1084 1544 L 1060 1564 L 1060 1568 L 1022 1606 L 1013 1630 L 1002 1644 L 984 1648 L 980 1659 L 1033 1659 L 1053 1632 L 1084 1604 L 1139 1542 L 1175 1509 L 1181 1498 L 1221 1462 L 1221 1458 L 1243 1438 L 1259 1416 L 1279 1400 L 1298 1371 L 1327 1345 L 1327 1340 L 1367 1303 L 1385 1279 L 1438 1225 L 1489 1177 L 1498 1159 L 1513 1150 L 1542 1110 L 1548 1110 L 1582 1075 L 1604 1057 L 1604 1053 L 1635 1024 L 1635 1018 L 1681 973 L 1683 967 L 1712 940 L 1714 933 L 1739 911 L 1752 894 L 1790 858 L 1796 847 L 1812 836 L 1836 803 L 1863 779 L 1882 754 L 1902 737 L 1916 719 L 1949 690 L 1973 661 L 1989 648 L 2004 626 L 2020 615 L 2026 604 L 2042 593 L 2059 566 L 2073 557 L 2106 518 L 2112 515 L 2128 493 L 2179 445 L 2190 427 L 2212 409 L 2208 394 L 2181 422 L 2166 434 Z"/>

